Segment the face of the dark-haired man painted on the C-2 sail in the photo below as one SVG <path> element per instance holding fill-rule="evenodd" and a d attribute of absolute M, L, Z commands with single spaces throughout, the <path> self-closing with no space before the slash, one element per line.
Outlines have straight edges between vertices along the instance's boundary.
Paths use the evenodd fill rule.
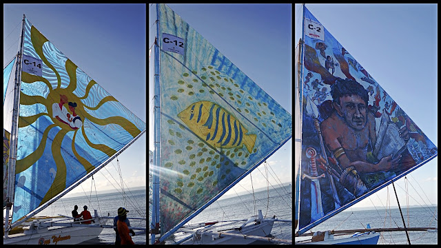
<path fill-rule="evenodd" d="M 349 127 L 362 130 L 367 121 L 367 108 L 365 101 L 358 95 L 340 97 L 340 105 L 336 107 L 338 114 L 345 118 Z"/>

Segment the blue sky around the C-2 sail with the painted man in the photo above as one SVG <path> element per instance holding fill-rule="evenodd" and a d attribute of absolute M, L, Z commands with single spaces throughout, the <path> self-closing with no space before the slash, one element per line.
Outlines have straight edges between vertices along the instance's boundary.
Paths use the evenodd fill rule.
<path fill-rule="evenodd" d="M 308 10 L 400 105 L 438 146 L 438 12 L 436 4 L 307 4 Z M 295 6 L 295 46 L 301 37 L 301 5 Z M 415 178 L 438 202 L 438 158 L 416 169 Z M 411 182 L 415 182 L 411 180 Z M 409 180 L 410 181 L 410 180 Z M 406 203 L 404 178 L 398 180 L 400 204 Z M 416 183 L 413 183 L 419 189 Z M 410 187 L 410 186 L 409 186 Z M 411 187 L 410 187 L 411 188 Z M 391 192 L 389 192 L 391 193 Z M 418 191 L 424 197 L 421 191 Z M 387 189 L 377 193 L 385 203 Z M 413 197 L 422 200 L 411 191 Z M 371 196 L 375 205 L 378 197 Z M 409 205 L 418 205 L 409 199 Z M 428 202 L 427 202 L 428 203 Z M 396 199 L 391 199 L 396 205 Z M 372 206 L 365 199 L 356 207 Z"/>

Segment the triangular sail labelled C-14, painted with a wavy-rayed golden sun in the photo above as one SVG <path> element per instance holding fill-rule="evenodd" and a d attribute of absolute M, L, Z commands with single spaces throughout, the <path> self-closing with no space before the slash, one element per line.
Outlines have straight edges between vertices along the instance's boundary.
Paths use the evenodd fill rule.
<path fill-rule="evenodd" d="M 24 28 L 13 223 L 145 130 L 28 19 Z"/>

